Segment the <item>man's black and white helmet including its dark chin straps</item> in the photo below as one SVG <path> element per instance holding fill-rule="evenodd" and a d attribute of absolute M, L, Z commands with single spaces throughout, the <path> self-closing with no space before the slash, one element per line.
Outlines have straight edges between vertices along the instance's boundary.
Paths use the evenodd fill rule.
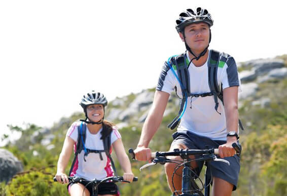
<path fill-rule="evenodd" d="M 208 49 L 208 46 L 198 55 L 196 56 L 190 49 L 190 47 L 187 45 L 186 40 L 185 40 L 185 27 L 190 25 L 190 24 L 195 24 L 195 23 L 201 23 L 204 22 L 208 24 L 209 27 L 213 25 L 213 20 L 211 18 L 211 15 L 208 13 L 206 9 L 202 8 L 197 8 L 196 12 L 194 12 L 192 9 L 187 9 L 186 11 L 182 12 L 180 14 L 180 17 L 175 21 L 176 22 L 176 30 L 178 33 L 183 33 L 184 35 L 184 41 L 186 45 L 186 49 L 194 56 L 193 59 L 191 59 L 190 62 L 192 62 L 194 59 L 198 60 L 200 57 L 202 57 Z M 209 43 L 211 41 L 211 30 L 209 29 Z"/>

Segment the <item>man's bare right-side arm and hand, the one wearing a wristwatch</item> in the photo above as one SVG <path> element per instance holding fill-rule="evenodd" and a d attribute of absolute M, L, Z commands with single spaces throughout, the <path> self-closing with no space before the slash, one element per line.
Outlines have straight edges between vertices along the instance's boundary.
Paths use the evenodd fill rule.
<path fill-rule="evenodd" d="M 235 86 L 224 89 L 223 100 L 227 132 L 238 132 L 238 87 Z M 219 146 L 221 158 L 235 154 L 235 150 L 232 147 L 232 143 L 234 142 L 237 142 L 236 137 L 227 137 L 226 144 Z"/>

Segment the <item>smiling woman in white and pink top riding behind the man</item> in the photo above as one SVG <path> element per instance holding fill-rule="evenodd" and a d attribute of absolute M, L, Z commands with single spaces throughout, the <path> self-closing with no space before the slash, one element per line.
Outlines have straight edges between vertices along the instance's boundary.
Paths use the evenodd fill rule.
<path fill-rule="evenodd" d="M 134 175 L 131 171 L 131 164 L 125 152 L 121 135 L 112 123 L 103 120 L 104 107 L 107 105 L 105 96 L 102 93 L 92 91 L 83 96 L 80 105 L 84 109 L 86 120 L 73 123 L 73 125 L 71 125 L 67 131 L 63 148 L 58 160 L 57 174 L 55 176 L 57 181 L 61 183 L 68 183 L 68 178 L 64 171 L 73 149 L 75 149 L 76 152 L 79 135 L 78 129 L 82 133 L 84 131 L 83 127 L 86 125 L 86 139 L 84 140 L 83 138 L 80 138 L 83 144 L 83 148 L 81 149 L 83 150 L 81 150 L 79 154 L 75 153 L 75 164 L 73 163 L 69 175 L 81 177 L 86 180 L 92 180 L 94 178 L 101 180 L 105 177 L 113 176 L 115 171 L 111 166 L 112 160 L 109 158 L 109 154 L 104 152 L 103 144 L 104 139 L 110 136 L 111 146 L 115 149 L 117 158 L 122 169 L 124 170 L 124 180 L 131 182 Z M 87 153 L 86 149 L 90 149 L 93 152 Z M 83 191 L 84 195 L 91 195 L 92 186 L 88 185 L 85 188 L 85 185 L 86 184 L 84 182 L 76 184 L 69 183 L 68 191 L 70 195 L 73 196 L 83 195 Z M 98 195 L 119 195 L 118 187 L 113 182 L 101 183 L 98 186 Z"/>

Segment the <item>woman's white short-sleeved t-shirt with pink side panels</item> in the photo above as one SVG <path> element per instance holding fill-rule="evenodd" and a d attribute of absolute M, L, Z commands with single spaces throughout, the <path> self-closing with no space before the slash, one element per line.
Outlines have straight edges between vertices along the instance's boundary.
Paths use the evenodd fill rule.
<path fill-rule="evenodd" d="M 73 123 L 68 129 L 66 136 L 70 137 L 75 141 L 74 150 L 76 151 L 78 141 L 78 127 L 81 126 L 80 122 Z M 88 127 L 86 130 L 86 142 L 85 147 L 91 150 L 103 150 L 103 141 L 100 139 L 102 129 L 97 134 L 91 134 Z M 114 128 L 111 134 L 111 145 L 121 138 L 119 131 Z M 99 153 L 90 152 L 84 161 L 84 150 L 78 154 L 76 163 L 71 172 L 71 176 L 77 176 L 86 180 L 103 179 L 114 175 L 114 171 L 111 165 L 111 160 L 106 156 L 105 152 L 101 152 L 103 160 L 100 160 Z M 112 153 L 112 147 L 110 150 Z"/>

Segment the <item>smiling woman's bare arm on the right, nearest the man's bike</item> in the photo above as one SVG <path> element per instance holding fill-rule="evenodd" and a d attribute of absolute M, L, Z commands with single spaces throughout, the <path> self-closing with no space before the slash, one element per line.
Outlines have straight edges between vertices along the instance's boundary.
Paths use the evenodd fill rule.
<path fill-rule="evenodd" d="M 131 171 L 131 164 L 130 164 L 128 155 L 126 154 L 124 144 L 121 138 L 117 139 L 113 143 L 113 148 L 115 149 L 117 158 L 120 162 L 122 169 L 124 170 L 124 175 L 123 175 L 124 180 L 132 182 L 133 173 Z"/>

